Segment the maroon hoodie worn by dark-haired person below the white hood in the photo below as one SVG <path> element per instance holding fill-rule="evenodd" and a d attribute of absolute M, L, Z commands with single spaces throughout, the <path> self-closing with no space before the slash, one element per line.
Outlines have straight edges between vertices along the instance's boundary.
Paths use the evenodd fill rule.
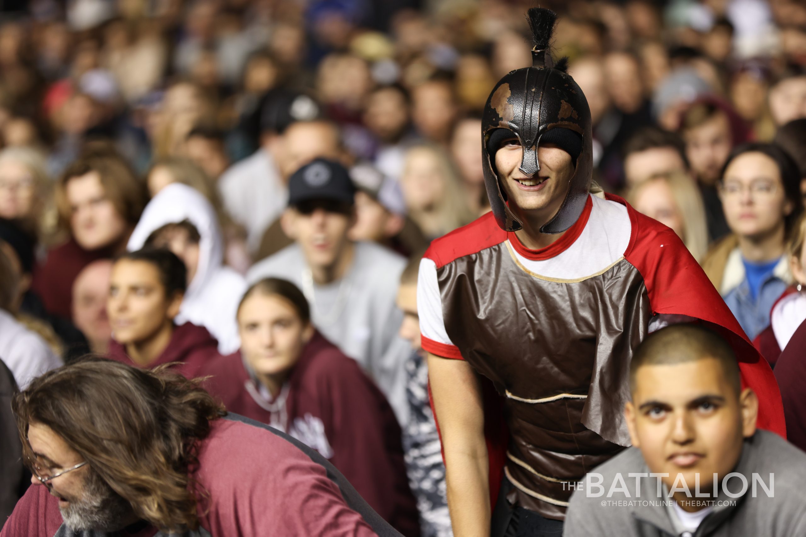
<path fill-rule="evenodd" d="M 185 375 L 186 378 L 199 376 L 199 371 L 206 362 L 218 354 L 218 341 L 210 336 L 207 328 L 197 326 L 193 323 L 185 323 L 173 329 L 171 341 L 159 357 L 149 366 L 156 367 L 172 361 L 178 361 L 176 366 L 172 366 L 177 373 Z M 129 366 L 138 366 L 126 353 L 126 348 L 117 341 L 111 340 L 109 352 L 106 357 L 111 360 L 120 361 Z M 138 366 L 139 367 L 139 366 Z"/>

